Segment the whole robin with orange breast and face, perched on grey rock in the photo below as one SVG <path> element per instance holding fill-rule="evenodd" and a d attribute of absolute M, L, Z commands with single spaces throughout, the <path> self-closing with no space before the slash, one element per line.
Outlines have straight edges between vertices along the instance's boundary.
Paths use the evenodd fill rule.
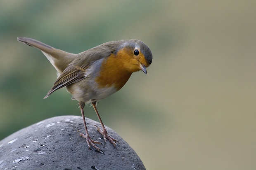
<path fill-rule="evenodd" d="M 103 135 L 104 142 L 109 140 L 117 147 L 117 140 L 108 134 L 100 114 L 97 111 L 97 101 L 102 100 L 119 91 L 128 81 L 133 72 L 142 70 L 147 74 L 147 67 L 152 63 L 152 52 L 140 40 L 119 40 L 100 44 L 96 47 L 73 54 L 55 49 L 43 42 L 27 37 L 17 37 L 19 42 L 35 47 L 43 52 L 46 58 L 57 70 L 57 80 L 44 98 L 49 97 L 56 90 L 66 87 L 71 93 L 72 100 L 77 100 L 83 117 L 88 148 L 103 151 L 96 144 L 101 142 L 92 140 L 85 122 L 84 107 L 90 103 L 101 123 L 102 129 L 97 130 Z"/>

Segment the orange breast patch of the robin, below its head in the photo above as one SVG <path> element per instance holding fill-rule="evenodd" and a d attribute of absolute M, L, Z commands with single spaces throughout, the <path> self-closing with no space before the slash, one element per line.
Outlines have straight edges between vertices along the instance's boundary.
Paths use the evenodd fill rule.
<path fill-rule="evenodd" d="M 121 52 L 121 51 L 119 51 Z M 114 86 L 116 90 L 120 90 L 130 78 L 132 72 L 123 67 L 128 62 L 126 55 L 111 54 L 102 62 L 100 75 L 95 79 L 99 84 L 99 88 Z"/>

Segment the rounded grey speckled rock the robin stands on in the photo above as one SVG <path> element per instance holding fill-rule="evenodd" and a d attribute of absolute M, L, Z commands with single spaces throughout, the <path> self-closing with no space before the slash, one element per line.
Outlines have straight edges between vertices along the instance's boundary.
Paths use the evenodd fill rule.
<path fill-rule="evenodd" d="M 96 127 L 86 119 L 90 137 L 104 143 Z M 21 129 L 0 141 L 0 169 L 12 170 L 145 170 L 135 151 L 106 127 L 118 143 L 97 145 L 104 154 L 88 149 L 81 116 L 57 116 Z"/>

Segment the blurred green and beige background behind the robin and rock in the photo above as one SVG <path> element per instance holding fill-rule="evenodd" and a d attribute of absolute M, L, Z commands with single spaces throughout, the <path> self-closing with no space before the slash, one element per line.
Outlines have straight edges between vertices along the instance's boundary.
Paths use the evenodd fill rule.
<path fill-rule="evenodd" d="M 108 41 L 139 39 L 152 50 L 136 72 L 98 102 L 105 125 L 147 170 L 256 168 L 256 1 L 34 1 L 0 5 L 0 140 L 52 116 L 78 115 L 31 37 L 79 53 Z M 98 121 L 92 107 L 85 116 Z M 74 131 L 75 133 L 75 131 Z"/>

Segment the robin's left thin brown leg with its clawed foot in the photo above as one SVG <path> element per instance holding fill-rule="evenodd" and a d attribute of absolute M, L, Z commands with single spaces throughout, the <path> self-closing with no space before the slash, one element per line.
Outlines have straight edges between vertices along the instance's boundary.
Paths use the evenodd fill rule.
<path fill-rule="evenodd" d="M 85 116 L 84 116 L 84 113 L 83 113 L 83 108 L 85 107 L 85 103 L 84 102 L 79 102 L 79 107 L 81 109 L 81 113 L 82 113 L 82 116 L 83 116 L 83 123 L 85 125 L 85 134 L 83 134 L 80 130 L 78 130 L 80 132 L 79 135 L 86 139 L 86 143 L 87 143 L 89 149 L 91 149 L 91 145 L 92 145 L 95 149 L 97 149 L 97 151 L 99 151 L 103 154 L 103 151 L 95 145 L 95 143 L 97 143 L 97 144 L 102 144 L 102 143 L 92 140 L 89 136 L 87 126 L 86 126 L 86 122 L 85 122 Z"/>

